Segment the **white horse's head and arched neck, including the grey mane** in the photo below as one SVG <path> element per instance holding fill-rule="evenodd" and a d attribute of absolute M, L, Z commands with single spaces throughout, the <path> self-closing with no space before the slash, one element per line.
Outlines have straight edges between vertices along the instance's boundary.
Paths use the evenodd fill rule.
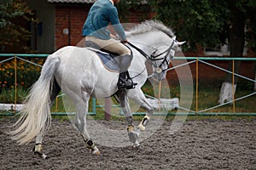
<path fill-rule="evenodd" d="M 129 40 L 139 42 L 136 48 L 153 66 L 153 77 L 157 81 L 166 78 L 166 71 L 175 51 L 184 42 L 177 42 L 171 28 L 157 20 L 146 20 L 127 32 Z M 132 47 L 132 45 L 131 45 Z"/>

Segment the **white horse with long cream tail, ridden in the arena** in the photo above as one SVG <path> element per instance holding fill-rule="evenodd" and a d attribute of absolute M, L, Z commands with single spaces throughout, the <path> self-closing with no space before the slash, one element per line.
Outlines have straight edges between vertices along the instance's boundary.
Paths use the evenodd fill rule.
<path fill-rule="evenodd" d="M 11 132 L 13 139 L 19 144 L 27 144 L 36 137 L 34 153 L 45 158 L 42 141 L 45 130 L 50 125 L 50 107 L 62 90 L 76 106 L 74 126 L 92 153 L 100 155 L 99 149 L 86 131 L 88 102 L 91 96 L 105 98 L 118 93 L 119 103 L 128 123 L 129 139 L 138 146 L 137 138 L 145 130 L 149 117 L 153 114 L 153 107 L 141 89 L 148 77 L 145 63 L 150 61 L 155 79 L 165 79 L 175 49 L 183 42 L 177 42 L 170 28 L 154 20 L 145 21 L 126 34 L 134 56 L 129 71 L 133 81 L 137 82 L 136 88 L 118 90 L 116 84 L 119 72 L 106 69 L 101 59 L 96 56 L 96 50 L 74 46 L 61 48 L 46 59 L 41 76 L 32 86 L 25 101 L 26 107 L 20 112 L 20 119 L 15 123 L 16 128 Z M 147 111 L 137 127 L 132 123 L 128 98 Z"/>

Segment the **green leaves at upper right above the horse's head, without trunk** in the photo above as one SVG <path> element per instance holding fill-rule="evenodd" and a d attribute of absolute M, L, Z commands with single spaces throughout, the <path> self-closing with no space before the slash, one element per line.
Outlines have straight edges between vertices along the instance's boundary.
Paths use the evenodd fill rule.
<path fill-rule="evenodd" d="M 232 4 L 245 16 L 247 42 L 255 48 L 255 11 L 254 0 L 152 0 L 149 1 L 157 13 L 156 19 L 162 20 L 176 31 L 177 37 L 187 40 L 190 49 L 198 45 L 212 47 L 225 43 L 230 38 Z"/>

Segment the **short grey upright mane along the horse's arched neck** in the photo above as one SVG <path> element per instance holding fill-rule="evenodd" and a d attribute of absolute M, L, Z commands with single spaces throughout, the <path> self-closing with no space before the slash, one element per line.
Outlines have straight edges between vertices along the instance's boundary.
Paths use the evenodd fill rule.
<path fill-rule="evenodd" d="M 169 37 L 175 36 L 172 29 L 165 26 L 160 20 L 146 20 L 141 24 L 131 28 L 131 30 L 127 32 L 127 37 L 131 35 L 141 34 L 143 32 L 154 31 L 154 30 L 163 31 Z"/>

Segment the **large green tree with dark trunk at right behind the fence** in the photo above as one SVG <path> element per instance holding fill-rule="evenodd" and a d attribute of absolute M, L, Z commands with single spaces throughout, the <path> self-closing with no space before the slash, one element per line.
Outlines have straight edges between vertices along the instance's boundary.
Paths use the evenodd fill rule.
<path fill-rule="evenodd" d="M 157 13 L 156 19 L 174 27 L 177 37 L 188 42 L 184 50 L 213 47 L 226 40 L 230 43 L 231 57 L 242 57 L 245 41 L 248 48 L 256 50 L 255 0 L 152 0 L 150 3 Z M 240 62 L 236 62 L 236 72 L 239 67 Z M 228 74 L 225 82 L 231 80 Z"/>

